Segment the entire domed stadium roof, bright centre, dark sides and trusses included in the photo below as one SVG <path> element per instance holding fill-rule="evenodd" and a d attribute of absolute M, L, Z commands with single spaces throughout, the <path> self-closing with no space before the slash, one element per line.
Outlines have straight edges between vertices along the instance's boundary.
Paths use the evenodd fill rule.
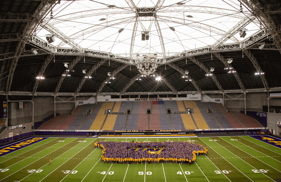
<path fill-rule="evenodd" d="M 0 4 L 0 88 L 6 93 L 281 87 L 281 11 L 274 0 Z"/>

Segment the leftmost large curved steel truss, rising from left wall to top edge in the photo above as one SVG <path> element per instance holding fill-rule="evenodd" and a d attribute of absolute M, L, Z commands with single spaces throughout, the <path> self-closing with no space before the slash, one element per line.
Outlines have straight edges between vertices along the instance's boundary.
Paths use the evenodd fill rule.
<path fill-rule="evenodd" d="M 56 0 L 52 0 L 52 1 L 55 2 Z M 9 76 L 8 76 L 7 83 L 6 83 L 6 93 L 10 92 L 15 68 L 17 66 L 19 57 L 21 56 L 21 54 L 23 52 L 25 42 L 26 42 L 26 40 L 29 39 L 29 37 L 31 37 L 33 35 L 33 32 L 35 32 L 35 30 L 36 30 L 36 26 L 38 25 L 39 21 L 41 21 L 43 16 L 48 14 L 49 9 L 52 6 L 52 1 L 42 0 L 40 5 L 38 6 L 38 8 L 35 10 L 34 14 L 32 15 L 32 17 L 33 17 L 32 20 L 28 21 L 26 26 L 24 27 L 23 37 L 17 44 L 17 47 L 15 49 L 16 51 L 15 51 L 15 54 L 13 56 L 12 63 L 10 66 Z"/>

